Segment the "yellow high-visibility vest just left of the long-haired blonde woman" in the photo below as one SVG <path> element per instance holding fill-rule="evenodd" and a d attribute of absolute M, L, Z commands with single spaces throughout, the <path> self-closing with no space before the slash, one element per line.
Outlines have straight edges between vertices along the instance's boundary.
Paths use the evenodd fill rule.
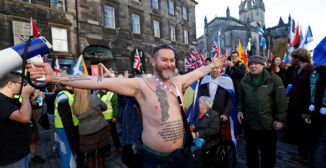
<path fill-rule="evenodd" d="M 62 124 L 62 121 L 61 121 L 61 117 L 59 116 L 59 112 L 58 112 L 58 102 L 57 102 L 57 99 L 58 99 L 60 93 L 64 93 L 64 94 L 67 95 L 67 97 L 68 97 L 68 103 L 69 103 L 69 106 L 70 106 L 70 109 L 71 109 L 71 115 L 73 117 L 74 126 L 78 126 L 79 125 L 79 120 L 74 115 L 74 111 L 72 109 L 72 105 L 73 105 L 73 102 L 74 102 L 74 97 L 67 90 L 63 90 L 63 91 L 60 91 L 58 93 L 58 95 L 57 95 L 57 97 L 55 98 L 55 101 L 54 101 L 54 125 L 55 125 L 55 127 L 56 128 L 64 128 L 63 127 L 63 124 Z"/>

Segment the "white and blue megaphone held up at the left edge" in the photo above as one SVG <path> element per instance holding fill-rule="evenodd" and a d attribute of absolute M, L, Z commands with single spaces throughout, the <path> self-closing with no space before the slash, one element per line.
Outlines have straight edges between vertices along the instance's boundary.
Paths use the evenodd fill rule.
<path fill-rule="evenodd" d="M 0 50 L 0 78 L 22 66 L 25 43 L 22 42 Z M 43 62 L 42 57 L 49 54 L 51 49 L 52 45 L 43 37 L 31 39 L 31 45 L 28 46 L 27 62 L 31 64 Z M 44 76 L 37 81 L 45 81 Z"/>

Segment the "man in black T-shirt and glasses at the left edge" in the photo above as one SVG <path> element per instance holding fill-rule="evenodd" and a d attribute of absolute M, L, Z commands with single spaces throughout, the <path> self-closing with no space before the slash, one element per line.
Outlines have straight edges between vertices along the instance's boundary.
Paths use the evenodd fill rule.
<path fill-rule="evenodd" d="M 0 79 L 0 168 L 28 168 L 30 162 L 30 120 L 37 113 L 40 90 L 29 84 L 20 94 L 21 73 L 12 71 Z M 30 95 L 32 95 L 30 97 Z"/>

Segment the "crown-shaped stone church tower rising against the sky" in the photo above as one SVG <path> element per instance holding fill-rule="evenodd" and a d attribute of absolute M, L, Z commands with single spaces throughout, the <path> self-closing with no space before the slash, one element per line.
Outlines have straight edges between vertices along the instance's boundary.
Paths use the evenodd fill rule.
<path fill-rule="evenodd" d="M 239 17 L 243 22 L 250 20 L 250 25 L 257 26 L 256 20 L 261 26 L 265 25 L 265 4 L 263 0 L 241 0 L 239 5 Z"/>

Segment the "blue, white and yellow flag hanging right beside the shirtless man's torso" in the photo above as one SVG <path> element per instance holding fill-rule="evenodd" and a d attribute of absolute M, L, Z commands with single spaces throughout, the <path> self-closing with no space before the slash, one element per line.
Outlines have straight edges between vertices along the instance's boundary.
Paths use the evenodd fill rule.
<path fill-rule="evenodd" d="M 200 89 L 200 80 L 195 81 L 191 84 L 185 91 L 183 95 L 186 108 L 186 117 L 189 123 L 189 126 L 196 126 L 198 123 L 199 117 L 199 94 L 198 90 Z"/>

